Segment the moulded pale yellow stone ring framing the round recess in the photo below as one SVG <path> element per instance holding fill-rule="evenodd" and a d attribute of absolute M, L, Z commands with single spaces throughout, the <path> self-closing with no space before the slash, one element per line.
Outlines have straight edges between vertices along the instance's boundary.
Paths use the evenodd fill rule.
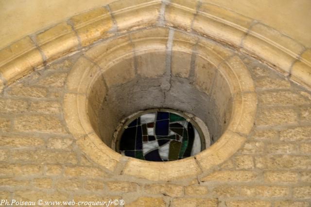
<path fill-rule="evenodd" d="M 169 31 L 174 35 L 169 35 Z M 172 39 L 173 38 L 173 39 Z M 173 42 L 173 48 L 167 47 Z M 229 124 L 216 143 L 199 154 L 170 162 L 150 162 L 122 156 L 108 147 L 92 127 L 92 115 L 87 113 L 88 97 L 94 81 L 110 74 L 112 82 L 122 84 L 126 77 L 114 77 L 107 68 L 135 53 L 183 51 L 196 54 L 215 65 L 225 77 L 233 97 L 233 108 Z M 128 74 L 128 73 L 127 73 Z M 106 77 L 107 78 L 107 77 Z M 97 91 L 95 104 L 101 104 L 105 91 Z M 122 33 L 95 44 L 73 65 L 66 82 L 63 100 L 64 116 L 69 131 L 77 145 L 94 162 L 111 174 L 131 175 L 149 180 L 173 180 L 196 176 L 224 162 L 245 142 L 250 133 L 257 111 L 257 95 L 248 69 L 238 55 L 207 38 L 194 36 L 168 28 L 149 28 L 138 32 Z"/>

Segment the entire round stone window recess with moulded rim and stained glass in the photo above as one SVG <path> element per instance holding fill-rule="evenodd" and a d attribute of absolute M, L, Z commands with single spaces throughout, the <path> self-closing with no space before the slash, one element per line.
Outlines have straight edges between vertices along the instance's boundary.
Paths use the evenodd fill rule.
<path fill-rule="evenodd" d="M 168 28 L 96 43 L 66 87 L 65 120 L 83 152 L 112 173 L 149 180 L 224 162 L 246 141 L 257 109 L 238 55 Z"/>

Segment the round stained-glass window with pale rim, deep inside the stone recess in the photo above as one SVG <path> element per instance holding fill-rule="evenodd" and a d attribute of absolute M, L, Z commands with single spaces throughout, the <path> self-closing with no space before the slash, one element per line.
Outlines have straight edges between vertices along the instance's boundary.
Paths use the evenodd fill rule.
<path fill-rule="evenodd" d="M 204 134 L 191 114 L 171 109 L 140 111 L 119 130 L 116 151 L 148 161 L 173 161 L 206 147 Z"/>

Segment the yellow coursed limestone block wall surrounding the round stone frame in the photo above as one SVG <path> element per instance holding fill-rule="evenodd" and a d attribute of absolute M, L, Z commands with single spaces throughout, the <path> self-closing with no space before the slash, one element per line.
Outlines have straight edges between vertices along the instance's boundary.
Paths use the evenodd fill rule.
<path fill-rule="evenodd" d="M 1 93 L 1 198 L 118 198 L 125 206 L 163 207 L 310 206 L 309 91 L 240 56 L 258 96 L 255 125 L 245 143 L 213 168 L 200 165 L 198 175 L 155 181 L 122 172 L 123 158 L 115 170 L 106 169 L 70 133 L 63 113 L 65 82 L 82 55 L 62 58 Z"/>

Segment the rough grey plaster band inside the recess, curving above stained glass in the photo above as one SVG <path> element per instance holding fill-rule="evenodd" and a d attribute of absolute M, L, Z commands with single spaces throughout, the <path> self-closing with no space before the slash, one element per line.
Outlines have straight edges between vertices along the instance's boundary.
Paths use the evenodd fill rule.
<path fill-rule="evenodd" d="M 220 116 L 216 105 L 207 94 L 196 89 L 188 79 L 177 77 L 171 79 L 170 90 L 163 91 L 160 83 L 165 80 L 165 77 L 153 79 L 138 77 L 109 89 L 103 105 L 97 110 L 100 120 L 97 124 L 104 143 L 110 146 L 112 135 L 124 117 L 137 111 L 154 108 L 168 108 L 194 114 L 207 125 L 213 142 L 217 141 L 225 129 L 225 124 L 221 121 L 225 117 Z"/>

